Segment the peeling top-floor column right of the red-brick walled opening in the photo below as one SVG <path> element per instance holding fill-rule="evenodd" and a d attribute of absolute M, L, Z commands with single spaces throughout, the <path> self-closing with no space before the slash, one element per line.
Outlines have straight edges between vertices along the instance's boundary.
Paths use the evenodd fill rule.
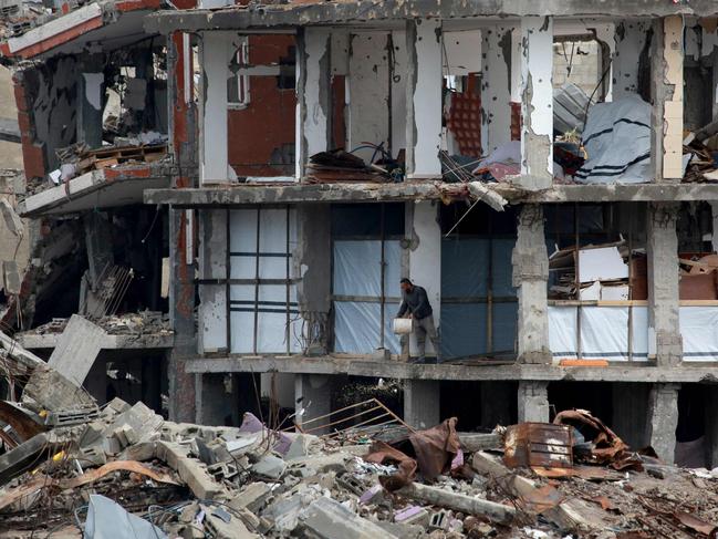
<path fill-rule="evenodd" d="M 331 139 L 331 32 L 305 28 L 298 37 L 299 80 L 295 155 L 296 177 L 304 174 L 309 157 L 329 149 Z"/>

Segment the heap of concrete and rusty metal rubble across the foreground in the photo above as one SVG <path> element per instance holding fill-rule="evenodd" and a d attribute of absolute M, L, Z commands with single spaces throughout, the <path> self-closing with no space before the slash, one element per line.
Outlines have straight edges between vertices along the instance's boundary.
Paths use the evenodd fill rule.
<path fill-rule="evenodd" d="M 100 407 L 86 394 L 37 391 L 72 382 L 6 335 L 0 345 L 7 372 L 24 369 L 8 380 L 27 380 L 21 403 L 0 402 L 0 537 L 718 533 L 718 469 L 633 453 L 585 411 L 490 434 L 457 433 L 456 418 L 323 436 L 271 429 L 249 413 L 240 427 L 179 424 L 143 403 Z"/>

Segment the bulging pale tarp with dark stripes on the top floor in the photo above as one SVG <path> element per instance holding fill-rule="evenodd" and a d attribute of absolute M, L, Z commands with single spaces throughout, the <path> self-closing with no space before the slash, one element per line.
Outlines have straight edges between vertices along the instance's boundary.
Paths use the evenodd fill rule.
<path fill-rule="evenodd" d="M 637 95 L 599 103 L 583 129 L 587 160 L 574 178 L 580 184 L 643 184 L 652 180 L 651 105 Z"/>

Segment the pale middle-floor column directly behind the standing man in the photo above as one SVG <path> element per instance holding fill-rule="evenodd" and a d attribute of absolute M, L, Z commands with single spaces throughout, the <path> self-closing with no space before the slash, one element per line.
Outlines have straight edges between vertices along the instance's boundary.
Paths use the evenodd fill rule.
<path fill-rule="evenodd" d="M 413 239 L 409 251 L 409 279 L 426 289 L 429 303 L 434 310 L 434 323 L 440 332 L 441 323 L 441 227 L 437 218 L 435 203 L 422 201 L 414 204 Z M 398 283 L 389 283 L 398 287 Z M 412 333 L 410 354 L 416 355 L 416 336 Z M 426 339 L 426 353 L 439 353 L 434 350 L 431 341 Z"/>

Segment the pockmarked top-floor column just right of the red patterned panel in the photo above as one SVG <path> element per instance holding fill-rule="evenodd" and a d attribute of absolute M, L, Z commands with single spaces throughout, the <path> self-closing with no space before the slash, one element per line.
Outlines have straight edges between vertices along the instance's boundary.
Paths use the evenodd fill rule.
<path fill-rule="evenodd" d="M 511 141 L 511 31 L 502 25 L 481 31 L 481 147 L 485 155 Z"/>

